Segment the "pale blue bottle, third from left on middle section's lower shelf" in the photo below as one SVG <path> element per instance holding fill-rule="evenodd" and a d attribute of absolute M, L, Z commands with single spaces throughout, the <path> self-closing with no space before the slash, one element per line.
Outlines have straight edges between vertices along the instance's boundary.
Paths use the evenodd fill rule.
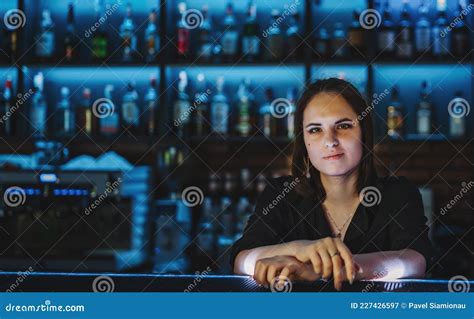
<path fill-rule="evenodd" d="M 214 132 L 225 136 L 228 133 L 230 106 L 224 94 L 223 76 L 217 78 L 216 90 L 211 101 L 211 125 Z"/>

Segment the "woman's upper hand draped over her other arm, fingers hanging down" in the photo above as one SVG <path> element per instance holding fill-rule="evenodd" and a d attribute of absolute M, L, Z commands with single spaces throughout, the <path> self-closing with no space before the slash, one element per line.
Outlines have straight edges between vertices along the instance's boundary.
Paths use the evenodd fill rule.
<path fill-rule="evenodd" d="M 334 288 L 341 289 L 344 280 L 355 278 L 355 263 L 351 251 L 340 238 L 300 240 L 296 243 L 295 257 L 302 263 L 311 263 L 323 279 L 334 278 Z"/>

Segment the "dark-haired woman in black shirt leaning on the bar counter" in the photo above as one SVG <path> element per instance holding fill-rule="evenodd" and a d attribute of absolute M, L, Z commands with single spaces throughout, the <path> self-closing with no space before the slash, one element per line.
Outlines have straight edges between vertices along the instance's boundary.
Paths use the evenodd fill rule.
<path fill-rule="evenodd" d="M 292 176 L 269 182 L 231 264 L 259 284 L 423 277 L 431 258 L 420 193 L 377 177 L 373 126 L 361 94 L 330 78 L 297 103 Z"/>

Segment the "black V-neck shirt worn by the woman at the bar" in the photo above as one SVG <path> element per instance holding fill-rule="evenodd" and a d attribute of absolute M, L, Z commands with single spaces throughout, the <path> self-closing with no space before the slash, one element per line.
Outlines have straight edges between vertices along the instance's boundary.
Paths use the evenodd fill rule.
<path fill-rule="evenodd" d="M 245 249 L 332 236 L 318 200 L 299 195 L 295 183 L 292 176 L 269 181 L 242 237 L 231 248 L 232 269 L 235 257 Z M 425 257 L 429 269 L 432 247 L 418 188 L 405 177 L 394 176 L 380 177 L 371 187 L 380 192 L 380 200 L 372 202 L 367 196 L 359 204 L 344 244 L 352 254 L 410 248 Z"/>

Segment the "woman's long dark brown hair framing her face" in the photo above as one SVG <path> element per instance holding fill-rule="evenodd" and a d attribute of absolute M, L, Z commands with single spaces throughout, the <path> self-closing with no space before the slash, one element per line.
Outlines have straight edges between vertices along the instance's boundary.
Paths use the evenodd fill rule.
<path fill-rule="evenodd" d="M 357 121 L 362 131 L 362 159 L 359 164 L 357 190 L 373 185 L 377 178 L 372 151 L 374 146 L 373 123 L 368 106 L 360 92 L 349 82 L 338 78 L 317 80 L 305 87 L 296 103 L 294 118 L 295 141 L 291 173 L 298 177 L 296 190 L 299 194 L 308 197 L 316 196 L 319 201 L 326 198 L 326 192 L 321 183 L 320 172 L 311 165 L 303 136 L 303 113 L 311 99 L 319 93 L 333 93 L 342 96 L 357 114 Z M 309 175 L 309 176 L 308 176 Z M 309 177 L 309 179 L 307 178 Z"/>

